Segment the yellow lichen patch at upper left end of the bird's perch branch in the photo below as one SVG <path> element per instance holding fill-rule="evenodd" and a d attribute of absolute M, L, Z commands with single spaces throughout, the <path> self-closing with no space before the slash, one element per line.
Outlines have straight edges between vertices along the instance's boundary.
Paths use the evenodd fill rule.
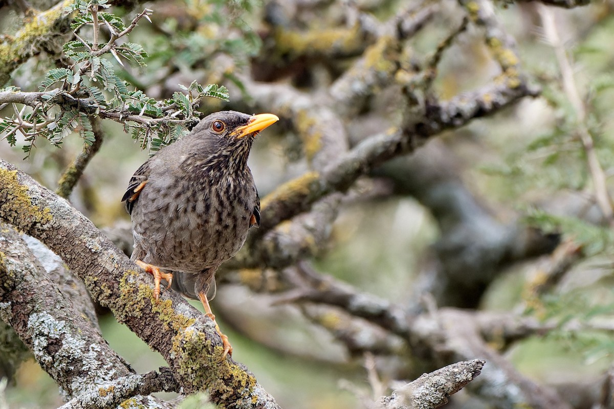
<path fill-rule="evenodd" d="M 49 207 L 33 204 L 28 186 L 21 185 L 17 170 L 0 168 L 0 216 L 14 226 L 29 231 L 33 224 L 45 224 L 52 220 Z"/>

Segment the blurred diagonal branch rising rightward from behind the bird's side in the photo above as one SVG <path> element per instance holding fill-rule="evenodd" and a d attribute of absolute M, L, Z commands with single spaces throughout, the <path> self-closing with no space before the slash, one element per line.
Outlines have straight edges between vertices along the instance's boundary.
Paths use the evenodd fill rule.
<path fill-rule="evenodd" d="M 249 243 L 259 240 L 281 221 L 305 212 L 327 194 L 346 191 L 360 175 L 382 162 L 413 152 L 430 137 L 449 128 L 459 128 L 475 118 L 492 115 L 522 97 L 535 95 L 537 90 L 526 83 L 515 87 L 493 83 L 448 102 L 427 104 L 418 120 L 371 136 L 330 163 L 322 172 L 308 172 L 266 195 L 262 200 L 262 224 L 248 238 Z"/>

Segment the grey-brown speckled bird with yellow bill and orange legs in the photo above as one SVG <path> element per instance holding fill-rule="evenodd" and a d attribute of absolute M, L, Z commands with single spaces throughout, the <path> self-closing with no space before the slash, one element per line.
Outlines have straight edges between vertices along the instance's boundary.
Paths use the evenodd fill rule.
<path fill-rule="evenodd" d="M 189 132 L 151 156 L 130 178 L 122 197 L 134 238 L 131 260 L 160 283 L 198 299 L 232 355 L 209 300 L 216 270 L 260 225 L 260 199 L 247 158 L 255 137 L 279 118 L 221 111 L 204 117 Z"/>

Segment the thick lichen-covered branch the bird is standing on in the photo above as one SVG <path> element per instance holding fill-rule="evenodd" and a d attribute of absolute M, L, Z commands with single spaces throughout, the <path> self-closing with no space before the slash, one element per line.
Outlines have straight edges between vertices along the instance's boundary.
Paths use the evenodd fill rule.
<path fill-rule="evenodd" d="M 93 299 L 160 352 L 182 391 L 207 389 L 211 399 L 244 408 L 278 405 L 254 375 L 231 359 L 211 319 L 179 294 L 153 300 L 152 279 L 71 205 L 0 160 L 0 218 L 47 244 L 85 281 Z"/>

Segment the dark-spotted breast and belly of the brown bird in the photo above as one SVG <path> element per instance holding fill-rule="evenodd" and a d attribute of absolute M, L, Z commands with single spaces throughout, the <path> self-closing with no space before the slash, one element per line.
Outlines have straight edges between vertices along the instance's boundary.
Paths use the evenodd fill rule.
<path fill-rule="evenodd" d="M 134 239 L 144 261 L 166 270 L 217 269 L 243 246 L 257 197 L 251 180 L 222 178 L 216 185 L 149 182 L 133 212 Z"/>

